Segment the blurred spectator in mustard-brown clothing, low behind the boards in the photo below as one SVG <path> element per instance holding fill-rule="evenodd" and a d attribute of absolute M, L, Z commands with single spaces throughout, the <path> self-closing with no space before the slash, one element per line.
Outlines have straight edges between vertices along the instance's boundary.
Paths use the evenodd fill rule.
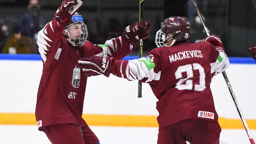
<path fill-rule="evenodd" d="M 3 48 L 3 53 L 36 53 L 36 45 L 28 36 L 21 36 L 19 25 L 12 29 L 12 33 Z"/>

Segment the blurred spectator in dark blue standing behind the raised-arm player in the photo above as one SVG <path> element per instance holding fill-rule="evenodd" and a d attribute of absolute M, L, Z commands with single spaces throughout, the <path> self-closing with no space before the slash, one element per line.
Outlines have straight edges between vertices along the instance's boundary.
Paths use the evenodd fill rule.
<path fill-rule="evenodd" d="M 29 36 L 36 44 L 37 33 L 44 27 L 44 18 L 40 15 L 40 4 L 38 0 L 30 0 L 28 12 L 20 18 L 21 35 Z"/>

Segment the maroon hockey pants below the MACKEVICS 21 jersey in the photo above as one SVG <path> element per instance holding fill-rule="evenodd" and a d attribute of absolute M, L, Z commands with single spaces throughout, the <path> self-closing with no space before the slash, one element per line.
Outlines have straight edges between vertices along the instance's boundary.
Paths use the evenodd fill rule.
<path fill-rule="evenodd" d="M 219 144 L 220 132 L 216 122 L 187 119 L 159 128 L 157 144 Z"/>

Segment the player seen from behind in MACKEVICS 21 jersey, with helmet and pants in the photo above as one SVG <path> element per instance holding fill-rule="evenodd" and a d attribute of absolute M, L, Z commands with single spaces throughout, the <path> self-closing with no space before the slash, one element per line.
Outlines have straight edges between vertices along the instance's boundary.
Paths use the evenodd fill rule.
<path fill-rule="evenodd" d="M 219 144 L 221 128 L 210 84 L 212 77 L 228 68 L 220 38 L 211 35 L 187 43 L 190 24 L 185 17 L 169 17 L 156 33 L 156 45 L 146 58 L 114 60 L 93 56 L 80 59 L 87 76 L 110 72 L 128 80 L 148 83 L 158 102 L 157 144 Z M 108 68 L 101 68 L 103 60 Z"/>

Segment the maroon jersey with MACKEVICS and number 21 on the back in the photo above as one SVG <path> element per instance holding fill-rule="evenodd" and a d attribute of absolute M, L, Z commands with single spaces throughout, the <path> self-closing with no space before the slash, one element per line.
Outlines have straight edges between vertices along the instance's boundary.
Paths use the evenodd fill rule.
<path fill-rule="evenodd" d="M 191 118 L 218 122 L 210 83 L 228 65 L 222 48 L 202 41 L 155 48 L 138 60 L 116 60 L 112 73 L 150 84 L 162 128 Z"/>

